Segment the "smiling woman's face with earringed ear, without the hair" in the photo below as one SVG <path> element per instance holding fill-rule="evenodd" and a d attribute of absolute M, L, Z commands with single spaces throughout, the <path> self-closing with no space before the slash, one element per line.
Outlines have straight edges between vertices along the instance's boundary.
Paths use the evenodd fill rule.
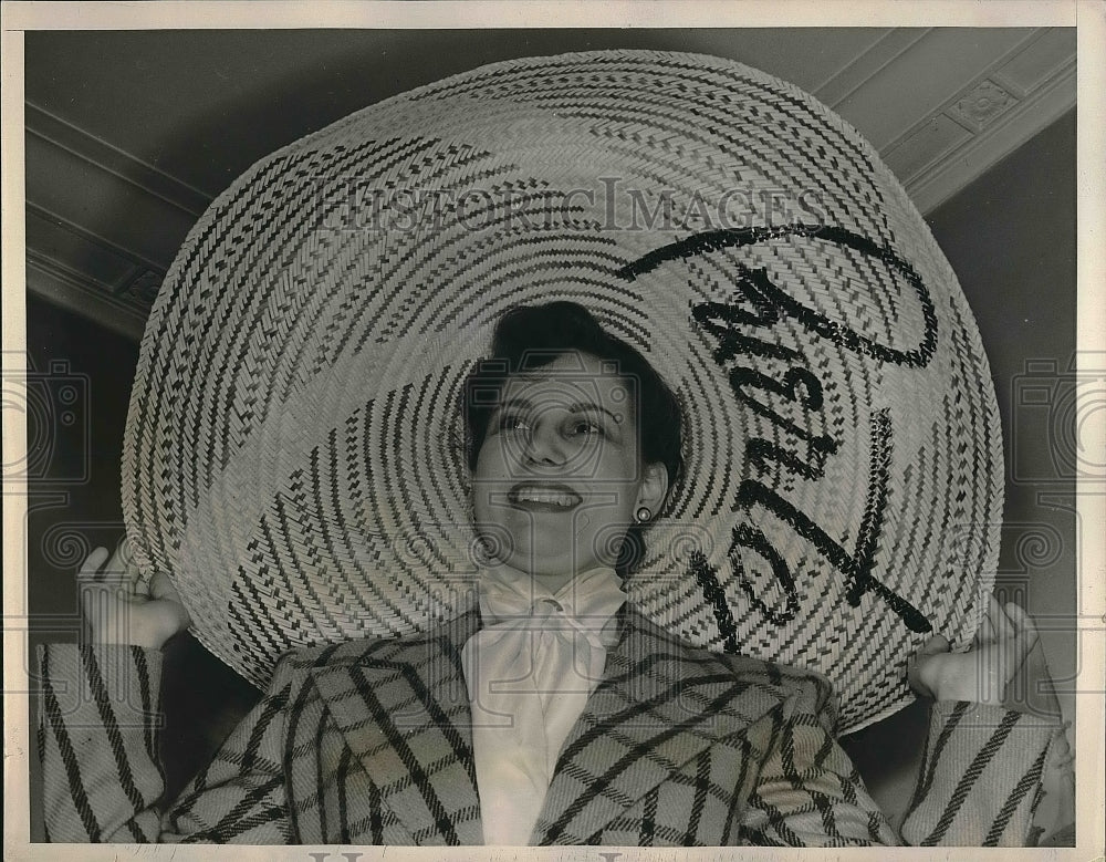
<path fill-rule="evenodd" d="M 613 567 L 634 512 L 657 511 L 668 487 L 641 463 L 634 382 L 609 365 L 571 352 L 512 375 L 477 456 L 477 531 L 494 561 L 551 586 Z"/>

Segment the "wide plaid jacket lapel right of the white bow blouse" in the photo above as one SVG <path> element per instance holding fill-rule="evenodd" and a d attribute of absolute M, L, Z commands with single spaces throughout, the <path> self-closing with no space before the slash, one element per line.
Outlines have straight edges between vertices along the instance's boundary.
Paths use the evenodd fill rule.
<path fill-rule="evenodd" d="M 775 703 L 640 614 L 623 619 L 604 679 L 561 751 L 533 844 L 595 843 L 646 793 Z"/>

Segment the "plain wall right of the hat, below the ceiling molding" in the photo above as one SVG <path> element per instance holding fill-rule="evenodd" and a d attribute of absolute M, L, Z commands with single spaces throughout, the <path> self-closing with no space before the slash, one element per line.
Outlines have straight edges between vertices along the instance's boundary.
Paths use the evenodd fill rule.
<path fill-rule="evenodd" d="M 928 218 L 975 312 L 1002 416 L 1000 583 L 1036 617 L 1056 679 L 1074 676 L 1077 653 L 1075 218 L 1074 111 Z"/>

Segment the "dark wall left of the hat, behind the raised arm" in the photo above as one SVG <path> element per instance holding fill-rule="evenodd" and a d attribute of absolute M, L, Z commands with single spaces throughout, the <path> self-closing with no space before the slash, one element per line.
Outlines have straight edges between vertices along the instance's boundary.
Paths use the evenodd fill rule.
<path fill-rule="evenodd" d="M 34 297 L 27 300 L 27 344 L 34 384 L 28 464 L 38 477 L 27 525 L 33 655 L 39 643 L 76 638 L 76 570 L 94 547 L 123 538 L 119 467 L 138 345 Z M 175 797 L 257 692 L 189 635 L 169 642 L 164 668 L 161 747 Z M 41 798 L 36 766 L 32 759 L 32 800 Z M 32 804 L 32 840 L 41 840 L 40 818 Z"/>

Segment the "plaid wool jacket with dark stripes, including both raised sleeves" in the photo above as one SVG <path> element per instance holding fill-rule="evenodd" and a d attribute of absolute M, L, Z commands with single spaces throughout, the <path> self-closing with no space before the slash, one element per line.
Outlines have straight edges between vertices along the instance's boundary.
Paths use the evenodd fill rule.
<path fill-rule="evenodd" d="M 634 611 L 623 621 L 532 844 L 1024 842 L 1054 726 L 937 704 L 899 835 L 834 739 L 824 679 L 691 647 Z M 285 656 L 268 694 L 164 814 L 150 720 L 160 654 L 46 647 L 39 747 L 49 837 L 480 844 L 460 663 L 478 627 L 470 612 L 421 635 Z"/>

